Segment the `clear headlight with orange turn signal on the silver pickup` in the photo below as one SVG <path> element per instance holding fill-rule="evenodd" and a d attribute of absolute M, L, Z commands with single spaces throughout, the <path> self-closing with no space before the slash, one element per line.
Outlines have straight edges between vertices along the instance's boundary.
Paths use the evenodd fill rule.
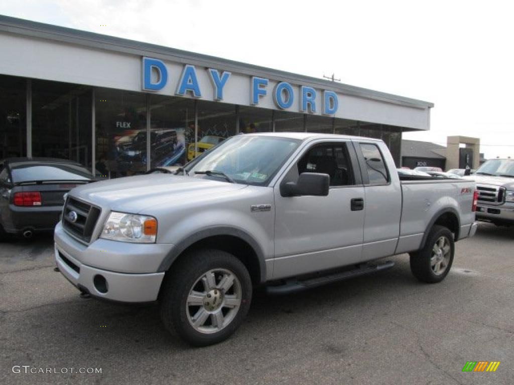
<path fill-rule="evenodd" d="M 157 220 L 154 217 L 112 211 L 103 225 L 100 238 L 121 242 L 155 243 Z"/>

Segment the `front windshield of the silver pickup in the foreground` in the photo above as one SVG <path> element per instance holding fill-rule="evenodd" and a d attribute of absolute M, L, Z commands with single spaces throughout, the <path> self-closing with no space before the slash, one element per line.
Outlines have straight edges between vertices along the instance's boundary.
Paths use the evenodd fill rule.
<path fill-rule="evenodd" d="M 191 176 L 195 171 L 221 171 L 236 183 L 263 186 L 299 144 L 296 139 L 238 135 L 204 152 L 185 169 Z"/>

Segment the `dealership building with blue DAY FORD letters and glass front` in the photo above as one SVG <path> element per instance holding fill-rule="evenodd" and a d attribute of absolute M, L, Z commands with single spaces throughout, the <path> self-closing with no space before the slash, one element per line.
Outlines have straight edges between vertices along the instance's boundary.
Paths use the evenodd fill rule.
<path fill-rule="evenodd" d="M 7 16 L 0 50 L 0 159 L 114 178 L 241 132 L 305 131 L 382 139 L 400 166 L 402 132 L 430 127 L 428 102 Z"/>

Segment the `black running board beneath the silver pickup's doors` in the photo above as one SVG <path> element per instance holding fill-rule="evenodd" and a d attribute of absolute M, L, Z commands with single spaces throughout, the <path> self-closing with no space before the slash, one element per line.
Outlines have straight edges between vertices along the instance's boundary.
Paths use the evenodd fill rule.
<path fill-rule="evenodd" d="M 353 270 L 333 273 L 325 276 L 309 278 L 305 280 L 288 279 L 282 285 L 266 286 L 266 293 L 272 295 L 297 293 L 309 288 L 326 285 L 328 283 L 343 281 L 345 279 L 359 277 L 361 275 L 371 274 L 378 271 L 386 270 L 394 266 L 393 261 L 387 261 L 381 264 L 361 264 Z"/>

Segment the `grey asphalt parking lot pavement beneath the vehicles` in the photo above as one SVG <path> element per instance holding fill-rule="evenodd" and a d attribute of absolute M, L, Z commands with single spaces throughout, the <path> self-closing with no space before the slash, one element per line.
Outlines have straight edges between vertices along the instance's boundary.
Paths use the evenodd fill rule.
<path fill-rule="evenodd" d="M 81 299 L 53 272 L 50 237 L 0 244 L 0 383 L 511 384 L 513 239 L 482 224 L 440 284 L 418 283 L 402 255 L 376 275 L 256 292 L 242 328 L 202 349 L 168 336 L 156 306 Z M 501 363 L 463 373 L 467 361 Z"/>

